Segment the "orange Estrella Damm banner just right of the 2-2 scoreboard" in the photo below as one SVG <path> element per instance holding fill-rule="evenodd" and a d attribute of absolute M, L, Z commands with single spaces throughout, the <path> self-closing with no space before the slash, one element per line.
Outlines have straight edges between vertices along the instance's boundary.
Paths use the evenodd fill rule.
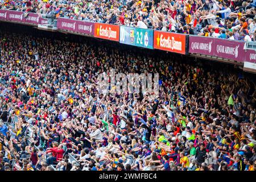
<path fill-rule="evenodd" d="M 154 31 L 154 48 L 185 54 L 186 36 L 188 35 Z"/>

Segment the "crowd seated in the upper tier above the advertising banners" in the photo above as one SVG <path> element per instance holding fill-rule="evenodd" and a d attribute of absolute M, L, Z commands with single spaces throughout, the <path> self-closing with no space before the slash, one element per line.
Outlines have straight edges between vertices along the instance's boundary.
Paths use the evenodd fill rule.
<path fill-rule="evenodd" d="M 255 0 L 1 0 L 0 8 L 91 22 L 255 41 Z"/>

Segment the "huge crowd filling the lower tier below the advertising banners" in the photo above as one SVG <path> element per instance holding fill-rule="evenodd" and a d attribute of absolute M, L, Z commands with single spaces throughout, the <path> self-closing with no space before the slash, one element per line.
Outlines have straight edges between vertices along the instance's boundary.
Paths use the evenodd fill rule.
<path fill-rule="evenodd" d="M 0 170 L 255 171 L 255 83 L 141 52 L 0 31 Z M 102 93 L 111 68 L 159 95 Z"/>

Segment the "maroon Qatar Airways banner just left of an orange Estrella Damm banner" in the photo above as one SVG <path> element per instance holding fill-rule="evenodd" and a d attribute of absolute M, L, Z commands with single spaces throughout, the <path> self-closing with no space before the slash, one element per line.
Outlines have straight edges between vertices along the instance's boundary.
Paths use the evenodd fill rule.
<path fill-rule="evenodd" d="M 57 19 L 57 28 L 61 30 L 68 30 L 72 32 L 79 32 L 81 34 L 94 34 L 94 23 L 85 22 L 82 20 L 74 20 L 67 18 Z"/>

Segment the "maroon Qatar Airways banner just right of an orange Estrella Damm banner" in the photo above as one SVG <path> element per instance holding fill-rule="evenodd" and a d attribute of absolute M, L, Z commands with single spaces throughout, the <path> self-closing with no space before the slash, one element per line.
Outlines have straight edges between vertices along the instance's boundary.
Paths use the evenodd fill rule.
<path fill-rule="evenodd" d="M 189 36 L 189 53 L 217 56 L 225 59 L 245 61 L 244 42 Z"/>

